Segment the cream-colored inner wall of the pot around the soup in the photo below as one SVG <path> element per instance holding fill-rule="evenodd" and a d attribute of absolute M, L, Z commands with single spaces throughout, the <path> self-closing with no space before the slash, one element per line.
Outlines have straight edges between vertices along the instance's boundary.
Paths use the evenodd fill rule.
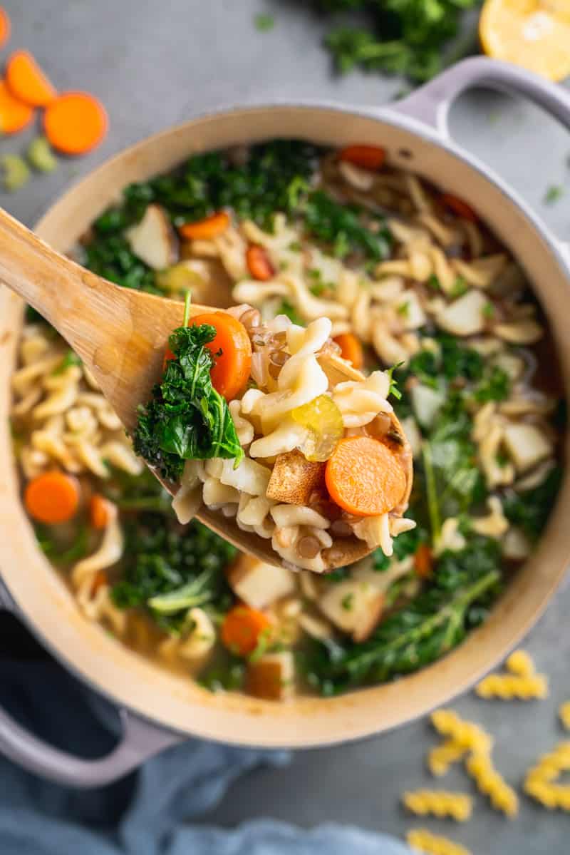
<path fill-rule="evenodd" d="M 202 150 L 271 137 L 303 137 L 333 146 L 380 144 L 391 162 L 412 168 L 466 198 L 526 269 L 570 380 L 567 304 L 570 284 L 555 250 L 519 206 L 479 169 L 439 144 L 370 116 L 325 108 L 244 109 L 191 121 L 140 143 L 70 190 L 38 224 L 38 233 L 66 251 L 131 181 L 165 172 Z M 18 298 L 0 289 L 0 569 L 27 622 L 76 674 L 117 704 L 171 728 L 228 743 L 314 746 L 372 734 L 419 716 L 468 687 L 532 625 L 561 580 L 570 552 L 566 477 L 541 545 L 502 597 L 491 618 L 450 656 L 386 686 L 337 699 L 286 704 L 241 695 L 212 695 L 129 651 L 85 620 L 36 546 L 21 508 L 9 434 L 9 380 L 21 325 Z"/>

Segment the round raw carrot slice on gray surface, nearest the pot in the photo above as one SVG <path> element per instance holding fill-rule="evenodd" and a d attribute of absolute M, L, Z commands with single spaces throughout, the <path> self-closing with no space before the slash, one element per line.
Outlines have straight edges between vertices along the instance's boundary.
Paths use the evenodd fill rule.
<path fill-rule="evenodd" d="M 109 126 L 103 104 L 88 92 L 64 92 L 44 113 L 45 136 L 66 155 L 83 155 L 95 148 Z"/>

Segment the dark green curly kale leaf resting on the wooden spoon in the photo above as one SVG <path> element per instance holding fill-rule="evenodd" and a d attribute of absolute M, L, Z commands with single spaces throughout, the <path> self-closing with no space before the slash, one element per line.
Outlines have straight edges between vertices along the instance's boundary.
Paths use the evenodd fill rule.
<path fill-rule="evenodd" d="M 169 345 L 176 358 L 139 411 L 134 450 L 170 481 L 179 481 L 185 460 L 235 457 L 237 465 L 244 457 L 226 400 L 212 386 L 214 357 L 206 345 L 215 334 L 208 324 L 174 330 Z"/>

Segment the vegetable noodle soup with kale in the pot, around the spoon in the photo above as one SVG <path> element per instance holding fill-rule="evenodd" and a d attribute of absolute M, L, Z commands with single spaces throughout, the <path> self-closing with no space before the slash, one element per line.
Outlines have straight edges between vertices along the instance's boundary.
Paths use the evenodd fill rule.
<path fill-rule="evenodd" d="M 330 319 L 337 357 L 389 373 L 414 456 L 398 532 L 350 567 L 238 555 L 179 523 L 89 372 L 28 311 L 12 380 L 24 504 L 86 619 L 210 690 L 274 700 L 393 680 L 485 621 L 554 504 L 564 416 L 544 316 L 468 199 L 378 148 L 279 140 L 127 187 L 76 254 L 120 286 L 240 306 L 254 333 Z M 273 345 L 277 377 L 290 354 Z M 238 402 L 229 410 L 247 454 L 255 425 Z M 311 437 L 332 447 L 329 410 L 309 415 Z M 224 495 L 217 506 L 240 524 L 243 497 Z M 312 520 L 319 501 L 305 498 Z M 324 516 L 320 537 L 354 522 Z M 259 525 L 271 536 L 270 515 Z"/>

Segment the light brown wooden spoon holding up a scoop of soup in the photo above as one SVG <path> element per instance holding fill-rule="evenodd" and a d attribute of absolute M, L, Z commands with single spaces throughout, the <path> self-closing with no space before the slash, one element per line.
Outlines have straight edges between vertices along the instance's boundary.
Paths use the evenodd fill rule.
<path fill-rule="evenodd" d="M 150 390 L 162 374 L 168 336 L 182 324 L 184 305 L 102 279 L 52 250 L 3 209 L 0 209 L 0 280 L 38 310 L 68 341 L 97 380 L 126 430 L 132 433 L 137 425 L 138 404 L 149 400 Z M 191 315 L 212 310 L 209 306 L 191 305 Z M 321 358 L 330 363 L 335 383 L 341 379 L 362 379 L 362 374 L 352 369 L 350 363 L 334 357 Z M 393 422 L 405 443 L 396 416 Z M 408 457 L 411 488 L 411 455 Z M 168 492 L 176 493 L 177 485 L 162 483 Z M 407 498 L 408 495 L 406 502 Z M 206 507 L 197 513 L 197 518 L 238 549 L 267 563 L 281 563 L 271 540 L 242 531 L 235 520 Z M 363 541 L 345 538 L 343 548 L 335 543 L 327 551 L 326 563 L 333 569 L 355 561 L 367 551 Z"/>

